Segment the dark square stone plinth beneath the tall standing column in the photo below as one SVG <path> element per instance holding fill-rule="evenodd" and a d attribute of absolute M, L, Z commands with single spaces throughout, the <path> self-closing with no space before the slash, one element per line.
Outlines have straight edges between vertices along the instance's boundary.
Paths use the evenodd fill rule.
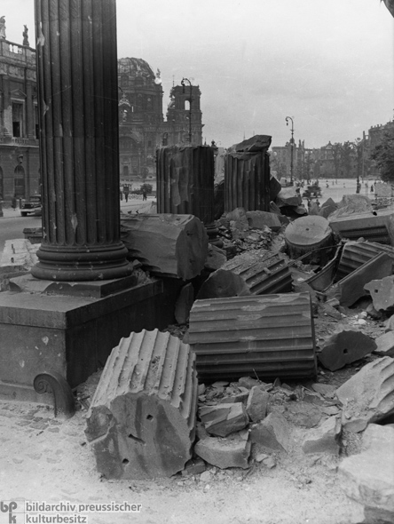
<path fill-rule="evenodd" d="M 173 322 L 176 287 L 156 281 L 106 297 L 0 293 L 0 398 L 45 401 L 33 389 L 43 372 L 83 383 L 122 337 Z"/>

